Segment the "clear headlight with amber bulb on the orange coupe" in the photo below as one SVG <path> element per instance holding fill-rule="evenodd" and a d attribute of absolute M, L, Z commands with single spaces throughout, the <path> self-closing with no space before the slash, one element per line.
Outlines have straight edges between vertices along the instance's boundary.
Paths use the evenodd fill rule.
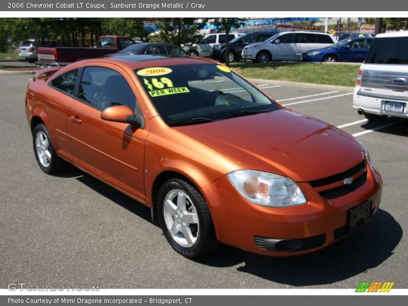
<path fill-rule="evenodd" d="M 237 170 L 227 176 L 239 193 L 252 203 L 271 207 L 307 203 L 297 184 L 287 177 L 256 170 Z"/>

